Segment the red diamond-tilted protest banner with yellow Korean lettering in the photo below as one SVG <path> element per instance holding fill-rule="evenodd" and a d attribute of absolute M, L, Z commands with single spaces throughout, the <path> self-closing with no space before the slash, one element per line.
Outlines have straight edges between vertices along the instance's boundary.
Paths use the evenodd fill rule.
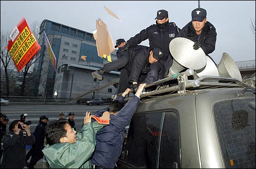
<path fill-rule="evenodd" d="M 19 20 L 10 38 L 11 40 L 8 41 L 8 51 L 20 72 L 41 47 L 24 17 Z"/>

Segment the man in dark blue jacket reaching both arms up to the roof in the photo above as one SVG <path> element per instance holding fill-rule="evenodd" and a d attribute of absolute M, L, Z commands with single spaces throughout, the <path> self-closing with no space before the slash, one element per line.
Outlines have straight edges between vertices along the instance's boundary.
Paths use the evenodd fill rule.
<path fill-rule="evenodd" d="M 92 155 L 92 168 L 114 168 L 122 151 L 124 127 L 131 120 L 140 103 L 140 94 L 146 84 L 142 83 L 136 94 L 124 105 L 124 97 L 131 92 L 126 89 L 108 108 L 95 112 L 101 117 L 105 111 L 110 113 L 110 124 L 101 128 L 96 134 L 96 147 Z"/>

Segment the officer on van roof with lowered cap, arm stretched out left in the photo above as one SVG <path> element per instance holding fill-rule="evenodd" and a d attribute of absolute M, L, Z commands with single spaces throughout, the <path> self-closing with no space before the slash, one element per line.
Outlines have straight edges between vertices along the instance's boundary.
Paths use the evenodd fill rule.
<path fill-rule="evenodd" d="M 158 47 L 164 53 L 159 64 L 154 64 L 154 69 L 162 69 L 163 67 L 164 74 L 173 64 L 173 57 L 169 51 L 169 43 L 177 37 L 180 29 L 174 22 L 169 22 L 168 12 L 166 10 L 157 11 L 157 17 L 155 19 L 157 19 L 156 24 L 148 26 L 139 34 L 130 38 L 127 41 L 126 47 L 129 48 L 130 46 L 140 44 L 142 41 L 148 39 L 151 49 Z"/>

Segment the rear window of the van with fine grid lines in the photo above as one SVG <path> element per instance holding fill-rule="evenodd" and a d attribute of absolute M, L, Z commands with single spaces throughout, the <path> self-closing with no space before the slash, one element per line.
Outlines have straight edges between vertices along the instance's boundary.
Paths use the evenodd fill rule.
<path fill-rule="evenodd" d="M 255 99 L 234 99 L 214 105 L 214 115 L 226 168 L 255 167 Z"/>

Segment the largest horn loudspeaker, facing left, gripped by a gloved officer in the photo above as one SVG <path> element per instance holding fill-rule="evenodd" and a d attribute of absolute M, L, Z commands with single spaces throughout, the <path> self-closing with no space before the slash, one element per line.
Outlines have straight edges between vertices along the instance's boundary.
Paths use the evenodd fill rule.
<path fill-rule="evenodd" d="M 206 65 L 206 55 L 202 48 L 193 49 L 195 42 L 186 38 L 174 38 L 170 41 L 169 50 L 174 57 L 172 67 L 169 68 L 168 76 L 180 73 L 184 69 L 199 70 Z"/>

